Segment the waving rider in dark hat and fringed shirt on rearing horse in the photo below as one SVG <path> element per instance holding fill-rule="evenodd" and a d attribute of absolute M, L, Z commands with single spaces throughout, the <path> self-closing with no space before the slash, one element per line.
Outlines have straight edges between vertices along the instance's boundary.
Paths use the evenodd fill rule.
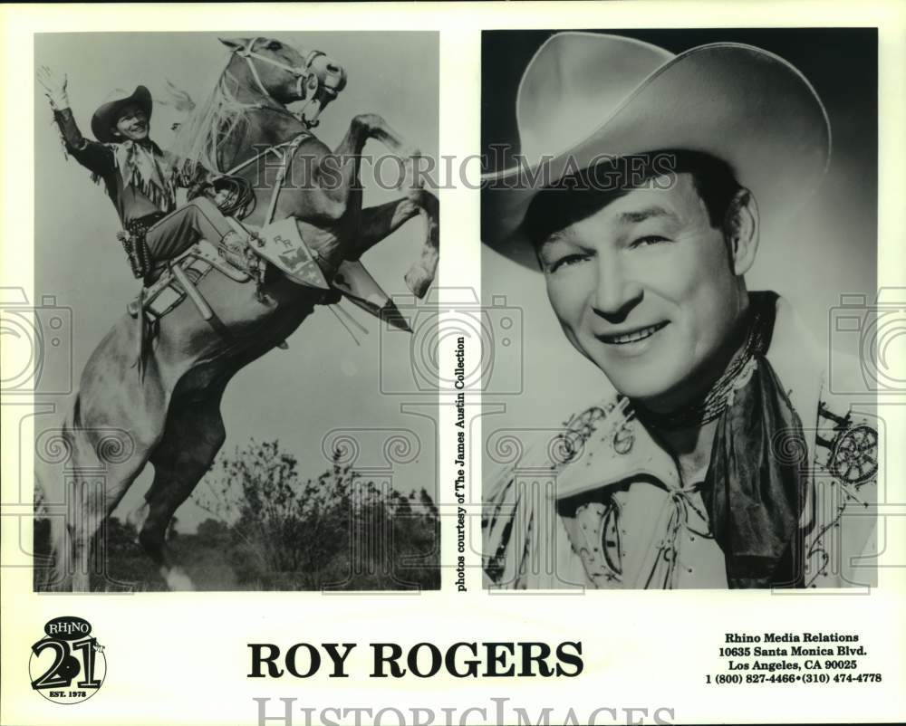
<path fill-rule="evenodd" d="M 111 94 L 92 116 L 92 132 L 98 139 L 92 141 L 82 136 L 72 115 L 65 74 L 58 76 L 43 67 L 38 81 L 66 150 L 92 172 L 93 181 L 106 186 L 126 232 L 123 242 L 136 277 L 146 277 L 156 263 L 178 256 L 201 238 L 232 253 L 242 249 L 246 240 L 207 196 L 196 196 L 177 208 L 177 188 L 198 189 L 207 173 L 185 177 L 178 158 L 150 139 L 152 101 L 145 86 L 130 95 Z"/>

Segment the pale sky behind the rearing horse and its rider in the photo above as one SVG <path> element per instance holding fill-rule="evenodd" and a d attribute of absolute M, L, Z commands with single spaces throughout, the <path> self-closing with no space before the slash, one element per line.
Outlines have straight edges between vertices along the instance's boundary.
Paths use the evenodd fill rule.
<path fill-rule="evenodd" d="M 358 113 L 383 116 L 411 145 L 426 155 L 438 154 L 439 79 L 437 33 L 282 33 L 253 29 L 231 37 L 274 37 L 306 50 L 318 49 L 341 62 L 348 82 L 337 100 L 323 111 L 315 134 L 334 147 Z M 213 87 L 224 68 L 226 48 L 214 33 L 44 33 L 35 36 L 34 62 L 65 72 L 72 110 L 82 133 L 90 136 L 93 110 L 108 93 L 137 84 L 155 99 L 166 98 L 165 81 L 188 91 L 197 102 Z M 72 370 L 75 380 L 92 349 L 125 310 L 137 290 L 115 234 L 119 220 L 113 205 L 87 171 L 63 148 L 53 117 L 35 85 L 35 285 L 37 296 L 53 295 L 72 308 Z M 170 124 L 178 114 L 156 103 L 151 137 L 163 148 L 172 139 Z M 371 141 L 365 152 L 385 151 Z M 367 178 L 365 205 L 381 204 L 399 193 L 378 189 Z M 420 220 L 405 224 L 362 258 L 391 296 L 406 295 L 403 274 L 418 254 L 423 238 Z M 325 435 L 352 430 L 360 444 L 354 468 L 374 476 L 387 472 L 383 442 L 400 434 L 414 442 L 409 463 L 394 463 L 392 483 L 401 492 L 424 487 L 436 491 L 436 396 L 416 393 L 410 371 L 406 334 L 381 345 L 378 321 L 344 303 L 369 333 L 357 332 L 361 346 L 342 330 L 326 308 L 288 339 L 288 350 L 274 350 L 240 371 L 226 389 L 222 411 L 227 439 L 222 452 L 257 440 L 279 439 L 300 460 L 304 475 L 317 476 L 329 466 L 323 452 Z M 429 314 L 424 303 L 419 311 Z M 426 318 L 422 318 L 423 320 Z M 381 369 L 393 371 L 396 392 L 381 393 Z M 387 387 L 384 387 L 386 390 Z M 45 397 L 65 406 L 62 397 Z M 414 404 L 417 413 L 402 411 Z M 409 409 L 407 409 L 409 410 Z M 37 428 L 37 426 L 36 426 Z M 358 431 L 356 431 L 358 430 Z M 328 452 L 332 448 L 326 446 Z M 140 504 L 147 490 L 147 467 L 120 504 L 124 514 Z M 194 530 L 207 513 L 187 502 L 177 512 L 178 530 Z"/>

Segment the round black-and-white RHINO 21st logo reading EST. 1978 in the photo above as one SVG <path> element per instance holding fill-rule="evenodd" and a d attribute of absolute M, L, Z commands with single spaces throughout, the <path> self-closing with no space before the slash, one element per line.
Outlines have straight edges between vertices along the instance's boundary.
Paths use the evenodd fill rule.
<path fill-rule="evenodd" d="M 87 701 L 104 682 L 107 660 L 92 626 L 81 617 L 54 617 L 32 645 L 32 688 L 54 703 Z"/>

